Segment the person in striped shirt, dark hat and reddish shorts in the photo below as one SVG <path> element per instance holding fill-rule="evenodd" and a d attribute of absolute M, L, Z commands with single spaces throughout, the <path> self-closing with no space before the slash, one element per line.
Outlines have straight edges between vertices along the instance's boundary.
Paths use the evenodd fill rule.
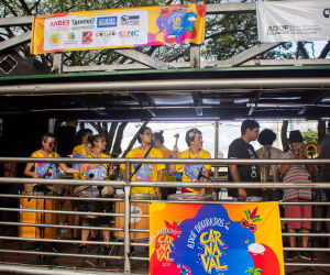
<path fill-rule="evenodd" d="M 299 130 L 290 131 L 289 133 L 290 151 L 283 153 L 280 158 L 306 158 L 302 151 L 302 135 Z M 279 173 L 283 176 L 284 183 L 297 183 L 308 184 L 311 183 L 312 175 L 317 173 L 315 165 L 301 165 L 301 164 L 284 164 L 279 167 Z M 285 189 L 285 201 L 311 201 L 311 189 Z M 295 205 L 285 207 L 286 218 L 311 218 L 310 205 Z M 288 233 L 296 233 L 301 230 L 302 233 L 309 233 L 311 228 L 310 221 L 288 221 Z M 296 248 L 296 237 L 289 237 L 289 246 Z M 308 246 L 308 237 L 302 237 L 302 248 Z M 294 262 L 300 256 L 304 261 L 311 261 L 311 253 L 309 251 L 302 251 L 300 255 L 296 251 L 289 251 L 286 261 Z"/>

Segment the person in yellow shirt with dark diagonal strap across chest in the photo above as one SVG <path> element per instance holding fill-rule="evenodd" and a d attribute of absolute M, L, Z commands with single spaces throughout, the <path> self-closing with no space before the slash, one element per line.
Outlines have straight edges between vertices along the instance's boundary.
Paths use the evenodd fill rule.
<path fill-rule="evenodd" d="M 152 147 L 153 132 L 148 127 L 143 127 L 140 130 L 138 141 L 140 146 L 131 150 L 125 157 L 143 158 L 147 153 L 147 158 L 163 158 L 160 150 Z M 139 168 L 140 167 L 140 168 Z M 136 172 L 135 172 L 136 169 Z M 132 180 L 135 182 L 162 182 L 163 180 L 164 164 L 134 164 L 131 167 L 131 172 L 135 173 Z M 125 178 L 125 164 L 120 165 L 120 173 Z M 155 196 L 161 195 L 160 187 L 133 187 L 132 194 L 153 194 Z"/>

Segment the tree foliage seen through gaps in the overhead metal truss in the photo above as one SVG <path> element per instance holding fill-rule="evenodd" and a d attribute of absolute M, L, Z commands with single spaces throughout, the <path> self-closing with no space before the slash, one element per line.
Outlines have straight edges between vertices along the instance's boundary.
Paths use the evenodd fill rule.
<path fill-rule="evenodd" d="M 145 6 L 186 4 L 186 3 L 228 3 L 237 2 L 230 0 L 0 0 L 1 18 L 42 15 L 63 12 L 74 12 L 84 10 L 117 9 Z M 246 1 L 242 1 L 246 2 Z M 224 61 L 257 43 L 256 16 L 253 13 L 234 14 L 212 14 L 207 15 L 206 41 L 201 45 L 201 55 L 207 61 Z M 19 33 L 31 30 L 31 25 L 6 26 L 0 29 L 0 35 L 7 40 Z M 298 43 L 293 48 L 293 43 L 284 43 L 282 46 L 268 51 L 257 58 L 308 58 L 306 50 L 308 43 Z M 323 48 L 320 57 L 326 57 L 329 53 L 330 44 Z M 138 48 L 147 55 L 163 62 L 187 62 L 189 61 L 189 44 L 164 45 Z M 20 46 L 20 52 L 26 57 L 31 57 L 29 45 Z M 46 65 L 52 66 L 52 55 L 44 54 L 36 56 Z M 111 50 L 65 52 L 64 64 L 66 66 L 86 65 L 110 65 L 132 63 L 128 57 L 120 56 Z"/>

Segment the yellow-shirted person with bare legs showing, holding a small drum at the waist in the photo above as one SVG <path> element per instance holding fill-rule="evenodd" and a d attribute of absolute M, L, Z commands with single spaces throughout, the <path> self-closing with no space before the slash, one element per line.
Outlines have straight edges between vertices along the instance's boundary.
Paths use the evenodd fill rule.
<path fill-rule="evenodd" d="M 107 141 L 105 136 L 96 134 L 89 138 L 88 140 L 91 144 L 91 153 L 87 157 L 92 158 L 105 158 L 105 157 L 111 157 L 108 154 L 105 154 L 105 150 L 107 146 Z M 89 180 L 109 180 L 110 176 L 114 174 L 113 166 L 110 163 L 99 163 L 99 164 L 81 164 L 80 165 L 80 172 L 79 176 L 81 179 L 89 179 Z M 75 189 L 75 195 L 80 197 L 100 197 L 100 196 L 109 196 L 113 194 L 113 188 L 111 186 L 79 186 Z M 80 204 L 80 211 L 85 212 L 99 212 L 103 211 L 103 205 L 100 204 L 100 201 L 81 201 Z M 91 216 L 81 216 L 81 223 L 84 227 L 90 226 L 90 219 L 94 219 L 97 217 Z M 101 220 L 101 224 L 103 227 L 109 227 L 109 220 L 107 218 Z M 82 229 L 81 230 L 81 241 L 86 242 L 88 240 L 90 230 L 89 229 Z M 102 237 L 106 242 L 110 242 L 110 231 L 105 230 L 102 231 Z M 86 253 L 87 252 L 87 245 L 84 243 L 82 245 L 79 245 L 79 253 Z M 102 253 L 105 255 L 108 255 L 110 252 L 110 246 L 105 245 Z"/>

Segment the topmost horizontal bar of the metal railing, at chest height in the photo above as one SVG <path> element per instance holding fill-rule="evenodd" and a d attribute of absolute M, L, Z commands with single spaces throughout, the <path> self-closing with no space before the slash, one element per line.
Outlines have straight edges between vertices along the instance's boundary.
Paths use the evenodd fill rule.
<path fill-rule="evenodd" d="M 329 164 L 330 158 L 91 158 L 91 157 L 0 157 L 0 163 L 162 163 L 162 164 Z"/>

